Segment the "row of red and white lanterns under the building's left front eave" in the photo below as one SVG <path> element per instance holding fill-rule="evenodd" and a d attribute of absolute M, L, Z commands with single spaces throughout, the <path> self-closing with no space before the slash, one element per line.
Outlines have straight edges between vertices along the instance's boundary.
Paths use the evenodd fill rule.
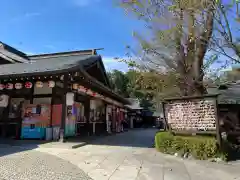
<path fill-rule="evenodd" d="M 37 88 L 42 88 L 43 87 L 43 82 L 37 81 L 35 86 Z M 33 83 L 28 81 L 25 84 L 23 83 L 7 83 L 7 84 L 0 84 L 0 90 L 7 89 L 7 90 L 12 90 L 12 89 L 22 89 L 23 87 L 27 89 L 31 89 L 33 87 Z M 55 87 L 55 82 L 54 81 L 48 81 L 48 87 L 53 88 Z"/>

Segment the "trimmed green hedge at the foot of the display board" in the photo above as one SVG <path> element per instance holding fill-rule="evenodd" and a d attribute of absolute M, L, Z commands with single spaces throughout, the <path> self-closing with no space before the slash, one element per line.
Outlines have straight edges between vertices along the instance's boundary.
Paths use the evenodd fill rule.
<path fill-rule="evenodd" d="M 209 136 L 179 136 L 170 132 L 158 132 L 155 136 L 155 147 L 163 153 L 181 156 L 189 154 L 195 159 L 210 159 L 221 157 L 215 137 Z"/>

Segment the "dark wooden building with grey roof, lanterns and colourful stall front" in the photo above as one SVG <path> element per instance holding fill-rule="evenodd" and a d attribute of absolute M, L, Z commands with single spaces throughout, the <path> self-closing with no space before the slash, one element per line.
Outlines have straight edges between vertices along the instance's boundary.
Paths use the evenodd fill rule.
<path fill-rule="evenodd" d="M 66 56 L 0 65 L 1 136 L 63 141 L 107 131 L 106 105 L 127 101 L 85 71 L 99 60 Z"/>

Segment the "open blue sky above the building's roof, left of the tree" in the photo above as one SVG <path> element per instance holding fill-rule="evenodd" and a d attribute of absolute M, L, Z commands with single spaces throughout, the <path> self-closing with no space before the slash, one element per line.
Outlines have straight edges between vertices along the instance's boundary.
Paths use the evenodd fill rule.
<path fill-rule="evenodd" d="M 124 57 L 142 28 L 114 0 L 1 0 L 0 22 L 0 41 L 25 53 L 104 48 L 108 70 L 126 70 L 113 57 Z"/>

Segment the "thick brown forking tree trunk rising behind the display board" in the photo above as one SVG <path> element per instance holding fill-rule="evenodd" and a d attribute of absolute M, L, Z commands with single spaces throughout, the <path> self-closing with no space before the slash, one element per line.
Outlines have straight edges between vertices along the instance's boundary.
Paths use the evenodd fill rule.
<path fill-rule="evenodd" d="M 203 84 L 203 61 L 213 32 L 214 9 L 212 6 L 208 7 L 205 15 L 206 21 L 203 32 L 199 38 L 196 38 L 193 26 L 195 20 L 194 12 L 190 12 L 187 53 L 184 52 L 184 46 L 181 44 L 180 38 L 182 35 L 178 34 L 178 72 L 181 76 L 179 85 L 183 96 L 207 94 L 206 87 Z M 180 22 L 182 18 L 182 14 L 180 14 Z M 182 32 L 180 31 L 180 33 Z"/>

